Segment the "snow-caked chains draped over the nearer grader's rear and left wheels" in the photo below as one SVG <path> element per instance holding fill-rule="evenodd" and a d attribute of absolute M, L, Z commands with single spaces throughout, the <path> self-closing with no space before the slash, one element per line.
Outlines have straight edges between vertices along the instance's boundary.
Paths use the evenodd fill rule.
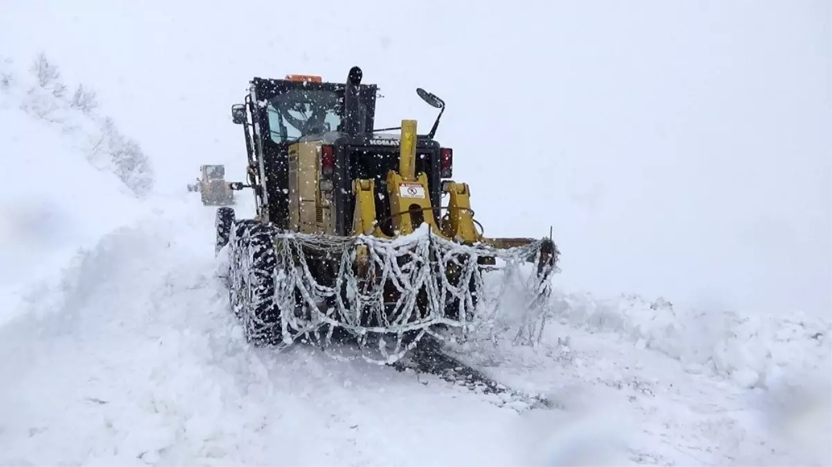
<path fill-rule="evenodd" d="M 282 337 L 279 347 L 311 338 L 325 347 L 342 328 L 357 337 L 365 360 L 379 364 L 398 361 L 425 334 L 464 340 L 472 332 L 500 332 L 495 323 L 507 306 L 521 307 L 533 326 L 545 312 L 556 272 L 554 266 L 547 266 L 548 271 L 534 266 L 543 240 L 505 249 L 468 246 L 431 234 L 426 225 L 395 239 L 332 238 L 242 221 L 231 229 L 229 240 L 232 306 L 244 326 L 258 325 L 249 326 L 249 332 L 256 329 L 262 335 L 250 337 L 276 334 Z M 310 253 L 336 259 L 331 264 L 337 271 L 323 276 L 333 277 L 332 283 L 315 279 L 305 259 Z M 498 264 L 482 269 L 481 256 L 498 258 Z M 448 281 L 450 269 L 459 274 L 460 285 Z M 389 288 L 397 292 L 394 302 L 385 300 Z M 518 293 L 523 302 L 517 301 Z M 509 296 L 511 302 L 501 300 Z M 456 303 L 460 305 L 451 306 Z M 275 310 L 280 319 L 264 319 L 259 309 Z M 378 344 L 377 351 L 371 343 Z"/>

